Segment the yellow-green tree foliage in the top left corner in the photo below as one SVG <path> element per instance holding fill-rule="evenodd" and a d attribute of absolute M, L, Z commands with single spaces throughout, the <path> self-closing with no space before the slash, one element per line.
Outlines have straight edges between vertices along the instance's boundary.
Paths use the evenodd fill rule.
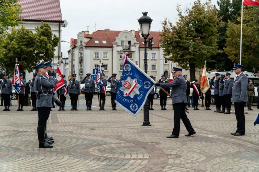
<path fill-rule="evenodd" d="M 9 27 L 18 26 L 22 13 L 21 5 L 18 0 L 0 0 L 0 35 Z"/>

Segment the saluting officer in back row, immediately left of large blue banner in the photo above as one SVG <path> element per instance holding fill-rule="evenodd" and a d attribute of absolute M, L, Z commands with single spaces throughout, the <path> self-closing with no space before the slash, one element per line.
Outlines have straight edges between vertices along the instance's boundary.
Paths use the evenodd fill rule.
<path fill-rule="evenodd" d="M 113 73 L 111 77 L 108 78 L 108 82 L 111 83 L 111 101 L 112 101 L 112 110 L 117 110 L 116 109 L 116 95 L 117 95 L 117 90 L 119 86 L 119 80 L 116 79 L 116 73 Z M 113 79 L 112 79 L 113 78 Z"/>

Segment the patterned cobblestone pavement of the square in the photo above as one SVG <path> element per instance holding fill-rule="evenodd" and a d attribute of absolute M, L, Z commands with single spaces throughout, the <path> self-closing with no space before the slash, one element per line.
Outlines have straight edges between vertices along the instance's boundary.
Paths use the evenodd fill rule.
<path fill-rule="evenodd" d="M 80 100 L 81 101 L 81 100 Z M 13 101 L 14 102 L 14 101 Z M 205 172 L 259 171 L 259 125 L 254 120 L 259 110 L 245 114 L 245 136 L 232 136 L 236 130 L 235 114 L 189 108 L 188 118 L 197 134 L 186 137 L 181 122 L 179 138 L 166 138 L 172 133 L 173 111 L 150 112 L 152 126 L 142 126 L 143 112 L 136 117 L 121 108 L 99 111 L 94 97 L 93 111 L 51 111 L 47 133 L 54 137 L 53 148 L 39 148 L 37 113 L 24 106 L 24 111 L 2 112 L 0 107 L 0 171 L 1 172 Z M 69 99 L 66 101 L 69 103 Z M 81 104 L 83 100 L 81 101 Z M 233 109 L 232 105 L 232 109 Z"/>

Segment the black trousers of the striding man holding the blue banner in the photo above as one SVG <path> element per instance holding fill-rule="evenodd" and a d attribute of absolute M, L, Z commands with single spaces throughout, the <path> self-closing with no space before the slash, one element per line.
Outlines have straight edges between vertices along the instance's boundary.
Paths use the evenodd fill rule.
<path fill-rule="evenodd" d="M 194 129 L 191 125 L 190 120 L 185 114 L 186 103 L 175 103 L 174 105 L 174 129 L 172 134 L 179 136 L 180 134 L 180 120 L 184 123 L 184 126 L 188 132 L 193 132 Z"/>

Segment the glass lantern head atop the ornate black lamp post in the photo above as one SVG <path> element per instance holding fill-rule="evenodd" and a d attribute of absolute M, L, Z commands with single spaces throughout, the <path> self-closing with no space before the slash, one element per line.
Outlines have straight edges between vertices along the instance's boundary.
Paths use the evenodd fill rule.
<path fill-rule="evenodd" d="M 148 12 L 142 12 L 143 16 L 138 19 L 140 33 L 142 36 L 147 37 L 149 36 L 151 23 L 153 19 L 147 16 Z"/>

